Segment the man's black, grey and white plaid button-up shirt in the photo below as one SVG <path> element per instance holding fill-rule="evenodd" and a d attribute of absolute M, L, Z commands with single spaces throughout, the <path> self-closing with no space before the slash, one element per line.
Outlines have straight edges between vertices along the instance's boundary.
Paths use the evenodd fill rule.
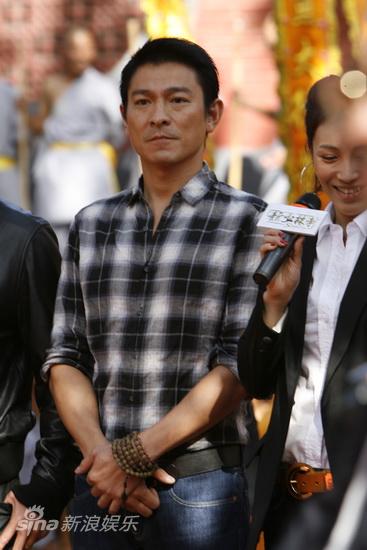
<path fill-rule="evenodd" d="M 64 363 L 93 380 L 108 439 L 156 423 L 216 365 L 237 374 L 237 340 L 257 293 L 255 222 L 264 206 L 204 165 L 174 195 L 154 235 L 142 182 L 77 215 L 44 373 Z M 194 448 L 243 440 L 237 420 Z"/>

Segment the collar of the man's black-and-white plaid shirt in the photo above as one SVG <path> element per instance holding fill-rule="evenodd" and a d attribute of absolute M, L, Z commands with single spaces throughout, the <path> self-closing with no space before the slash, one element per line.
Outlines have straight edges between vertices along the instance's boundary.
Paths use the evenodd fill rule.
<path fill-rule="evenodd" d="M 181 196 L 187 203 L 194 206 L 201 200 L 209 191 L 217 178 L 206 162 L 199 172 L 197 172 L 185 185 L 176 193 L 176 196 Z M 136 201 L 144 199 L 144 180 L 143 176 L 139 178 L 138 183 L 131 189 L 128 203 L 135 204 Z"/>

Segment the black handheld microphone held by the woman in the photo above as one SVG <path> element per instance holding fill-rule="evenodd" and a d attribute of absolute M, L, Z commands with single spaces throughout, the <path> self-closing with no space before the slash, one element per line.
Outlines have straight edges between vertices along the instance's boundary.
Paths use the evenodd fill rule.
<path fill-rule="evenodd" d="M 277 213 L 281 214 L 281 218 L 282 218 L 281 221 L 278 224 L 276 222 L 272 223 L 267 227 L 275 227 L 276 229 L 281 229 L 283 231 L 283 228 L 285 226 L 284 222 L 287 222 L 288 220 L 290 220 L 294 225 L 293 223 L 294 214 L 293 215 L 288 214 L 288 220 L 287 220 L 287 212 L 292 210 L 294 206 L 296 206 L 297 209 L 301 207 L 301 208 L 311 208 L 313 210 L 319 210 L 321 207 L 321 201 L 319 197 L 316 195 L 316 193 L 305 193 L 290 207 L 289 206 L 283 207 L 283 210 L 285 210 L 285 213 L 282 212 L 281 208 L 279 207 Z M 293 210 L 297 210 L 297 209 L 293 209 Z M 274 210 L 273 210 L 273 213 L 274 213 Z M 274 215 L 273 215 L 273 219 L 274 219 Z M 259 222 L 259 225 L 260 225 L 260 222 Z M 263 225 L 263 227 L 266 227 L 266 225 Z M 267 284 L 274 277 L 275 273 L 278 271 L 278 269 L 280 268 L 284 260 L 289 256 L 296 239 L 302 233 L 305 233 L 305 232 L 302 230 L 299 232 L 283 231 L 283 239 L 288 243 L 287 246 L 277 247 L 275 250 L 271 250 L 270 252 L 268 252 L 261 260 L 259 267 L 257 268 L 257 270 L 253 275 L 255 282 L 259 286 L 263 288 L 267 286 Z M 307 233 L 310 234 L 309 232 Z"/>

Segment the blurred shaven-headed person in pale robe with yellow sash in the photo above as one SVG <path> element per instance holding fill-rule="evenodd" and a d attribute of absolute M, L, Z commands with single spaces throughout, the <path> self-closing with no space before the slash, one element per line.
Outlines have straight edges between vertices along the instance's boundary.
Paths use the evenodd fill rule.
<path fill-rule="evenodd" d="M 43 137 L 32 171 L 33 213 L 54 226 L 61 248 L 75 214 L 118 191 L 120 98 L 118 87 L 91 66 L 95 55 L 92 34 L 80 27 L 70 30 L 65 73 L 50 78 L 42 106 Z"/>

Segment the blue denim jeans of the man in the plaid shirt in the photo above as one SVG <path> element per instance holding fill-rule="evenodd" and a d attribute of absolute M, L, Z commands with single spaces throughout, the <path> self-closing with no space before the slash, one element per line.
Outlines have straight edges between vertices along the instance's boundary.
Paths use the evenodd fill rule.
<path fill-rule="evenodd" d="M 173 487 L 159 491 L 156 532 L 161 543 L 154 548 L 244 548 L 248 528 L 245 486 L 242 472 L 223 469 L 178 479 Z"/>

